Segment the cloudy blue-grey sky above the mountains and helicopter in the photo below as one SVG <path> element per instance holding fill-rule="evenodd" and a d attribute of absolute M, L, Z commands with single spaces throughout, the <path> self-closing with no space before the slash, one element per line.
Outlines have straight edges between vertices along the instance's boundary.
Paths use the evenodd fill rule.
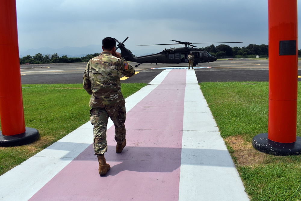
<path fill-rule="evenodd" d="M 267 2 L 16 0 L 19 49 L 101 45 L 101 40 L 107 36 L 120 42 L 129 36 L 124 44 L 130 50 L 145 48 L 138 45 L 173 43 L 170 40 L 194 43 L 243 41 L 229 43 L 231 47 L 267 45 Z M 197 47 L 209 45 L 196 44 Z M 181 45 L 153 47 L 162 51 Z"/>

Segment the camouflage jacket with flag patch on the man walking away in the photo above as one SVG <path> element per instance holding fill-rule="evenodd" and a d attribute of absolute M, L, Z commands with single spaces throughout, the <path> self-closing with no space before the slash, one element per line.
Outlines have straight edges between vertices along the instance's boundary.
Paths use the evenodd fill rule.
<path fill-rule="evenodd" d="M 101 52 L 92 58 L 85 69 L 83 87 L 91 94 L 90 107 L 103 108 L 106 105 L 124 105 L 120 78 L 132 77 L 135 69 L 123 58 L 114 57 L 110 52 Z"/>

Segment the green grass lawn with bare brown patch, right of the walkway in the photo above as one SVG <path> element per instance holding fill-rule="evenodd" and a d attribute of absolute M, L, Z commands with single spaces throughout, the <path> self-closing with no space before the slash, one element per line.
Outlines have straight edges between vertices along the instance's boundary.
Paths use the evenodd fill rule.
<path fill-rule="evenodd" d="M 301 156 L 255 150 L 252 138 L 268 132 L 268 82 L 200 83 L 251 200 L 301 200 Z M 301 83 L 297 135 L 301 136 Z"/>

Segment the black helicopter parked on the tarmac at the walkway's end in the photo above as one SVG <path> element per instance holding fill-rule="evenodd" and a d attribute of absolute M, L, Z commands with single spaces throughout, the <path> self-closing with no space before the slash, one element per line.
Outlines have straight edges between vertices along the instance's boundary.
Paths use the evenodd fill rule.
<path fill-rule="evenodd" d="M 128 49 L 125 48 L 123 43 L 129 38 L 126 37 L 126 39 L 123 42 L 119 42 L 117 39 L 116 42 L 118 42 L 117 48 L 120 48 L 121 55 L 126 61 L 132 61 L 137 62 L 138 65 L 135 67 L 137 68 L 140 64 L 143 63 L 155 63 L 155 64 L 181 64 L 181 63 L 188 63 L 187 56 L 192 52 L 194 55 L 194 66 L 196 66 L 198 63 L 204 63 L 204 62 L 213 62 L 216 61 L 216 57 L 209 54 L 209 52 L 200 50 L 198 48 L 194 48 L 196 46 L 191 44 L 201 44 L 201 43 L 192 43 L 192 42 L 181 42 L 177 40 L 172 40 L 178 43 L 169 43 L 169 44 L 155 44 L 155 45 L 179 45 L 182 44 L 185 47 L 182 48 L 172 48 L 172 49 L 164 49 L 162 52 L 159 52 L 157 54 L 152 55 L 145 55 L 140 57 L 134 57 Z M 204 43 L 210 43 L 210 42 L 204 42 Z M 235 43 L 235 42 L 213 42 L 213 43 Z M 142 46 L 151 46 L 151 45 L 142 45 Z M 188 46 L 188 47 L 187 47 Z M 189 47 L 191 46 L 191 47 Z"/>

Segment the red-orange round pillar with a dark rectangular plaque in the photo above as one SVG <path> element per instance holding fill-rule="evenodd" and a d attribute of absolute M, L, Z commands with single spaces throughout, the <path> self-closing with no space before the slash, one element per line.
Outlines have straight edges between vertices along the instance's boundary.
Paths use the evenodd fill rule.
<path fill-rule="evenodd" d="M 292 143 L 297 127 L 297 0 L 268 0 L 268 30 L 268 139 Z"/>

